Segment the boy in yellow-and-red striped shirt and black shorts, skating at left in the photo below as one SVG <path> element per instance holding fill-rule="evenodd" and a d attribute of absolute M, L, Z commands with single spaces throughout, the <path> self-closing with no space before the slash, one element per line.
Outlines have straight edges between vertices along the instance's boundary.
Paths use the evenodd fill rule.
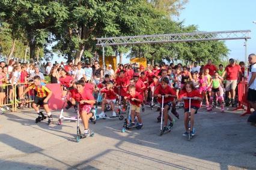
<path fill-rule="evenodd" d="M 34 89 L 37 92 L 35 96 L 32 107 L 35 111 L 37 111 L 38 117 L 35 119 L 35 123 L 40 122 L 41 120 L 46 119 L 46 116 L 41 112 L 39 105 L 43 105 L 44 110 L 46 111 L 47 116 L 49 117 L 48 125 L 52 124 L 52 114 L 50 113 L 50 109 L 48 107 L 48 101 L 50 96 L 52 96 L 52 91 L 47 89 L 45 85 L 41 84 L 41 78 L 38 75 L 35 75 L 34 84 L 25 89 L 25 91 L 20 95 L 20 99 L 23 99 L 24 95 L 29 91 Z M 47 94 L 48 93 L 48 94 Z"/>

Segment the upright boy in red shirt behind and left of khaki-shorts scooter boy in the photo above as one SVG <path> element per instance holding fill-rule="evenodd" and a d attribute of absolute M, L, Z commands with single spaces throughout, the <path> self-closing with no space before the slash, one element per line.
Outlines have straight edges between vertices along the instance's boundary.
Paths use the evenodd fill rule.
<path fill-rule="evenodd" d="M 128 79 L 128 77 L 124 77 L 124 70 L 121 69 L 119 74 L 120 77 L 117 80 L 117 83 L 115 83 L 115 87 L 120 87 L 121 88 L 121 96 L 126 96 L 126 91 L 127 91 L 127 86 L 129 86 L 130 81 Z M 126 100 L 123 99 L 123 110 L 122 111 L 126 111 Z"/>

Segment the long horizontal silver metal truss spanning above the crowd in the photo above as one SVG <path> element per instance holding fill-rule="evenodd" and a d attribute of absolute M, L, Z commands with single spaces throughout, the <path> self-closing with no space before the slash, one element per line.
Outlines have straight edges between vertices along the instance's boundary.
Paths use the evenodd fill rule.
<path fill-rule="evenodd" d="M 181 34 L 163 35 L 140 35 L 130 37 L 96 38 L 96 45 L 129 45 L 164 42 L 186 42 L 186 41 L 212 41 L 212 40 L 241 40 L 251 39 L 250 30 L 239 31 L 217 31 L 217 32 L 194 32 Z"/>

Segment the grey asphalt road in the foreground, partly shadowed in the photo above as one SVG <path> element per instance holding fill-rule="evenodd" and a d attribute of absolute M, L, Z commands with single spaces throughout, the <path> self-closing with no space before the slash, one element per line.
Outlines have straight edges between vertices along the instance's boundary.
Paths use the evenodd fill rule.
<path fill-rule="evenodd" d="M 248 116 L 240 117 L 242 111 L 231 109 L 221 113 L 220 108 L 201 108 L 191 141 L 182 136 L 181 109 L 180 119 L 163 136 L 156 107 L 147 107 L 141 112 L 143 129 L 123 133 L 124 120 L 100 119 L 89 125 L 95 135 L 80 142 L 75 139 L 76 122 L 58 125 L 60 110 L 52 111 L 50 126 L 47 121 L 35 123 L 31 109 L 5 113 L 0 115 L 0 169 L 256 169 L 255 128 L 247 125 Z M 64 112 L 75 115 L 73 108 Z"/>

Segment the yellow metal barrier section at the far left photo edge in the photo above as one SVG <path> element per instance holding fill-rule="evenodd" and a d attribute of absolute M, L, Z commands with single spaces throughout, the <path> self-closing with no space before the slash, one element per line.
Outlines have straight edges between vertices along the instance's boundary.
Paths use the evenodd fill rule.
<path fill-rule="evenodd" d="M 13 89 L 11 84 L 0 84 L 0 107 L 4 108 L 5 106 L 9 106 L 14 111 L 14 103 L 10 101 L 14 101 L 14 95 L 11 94 L 11 100 L 8 100 L 10 95 L 10 89 Z"/>

